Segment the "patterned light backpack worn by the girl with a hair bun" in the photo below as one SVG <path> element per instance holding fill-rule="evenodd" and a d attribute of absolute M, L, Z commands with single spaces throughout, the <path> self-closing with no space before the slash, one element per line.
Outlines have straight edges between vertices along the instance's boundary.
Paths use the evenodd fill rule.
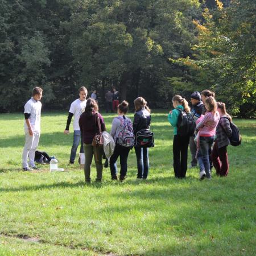
<path fill-rule="evenodd" d="M 134 146 L 133 124 L 129 118 L 118 117 L 120 123 L 117 144 L 123 147 Z"/>

